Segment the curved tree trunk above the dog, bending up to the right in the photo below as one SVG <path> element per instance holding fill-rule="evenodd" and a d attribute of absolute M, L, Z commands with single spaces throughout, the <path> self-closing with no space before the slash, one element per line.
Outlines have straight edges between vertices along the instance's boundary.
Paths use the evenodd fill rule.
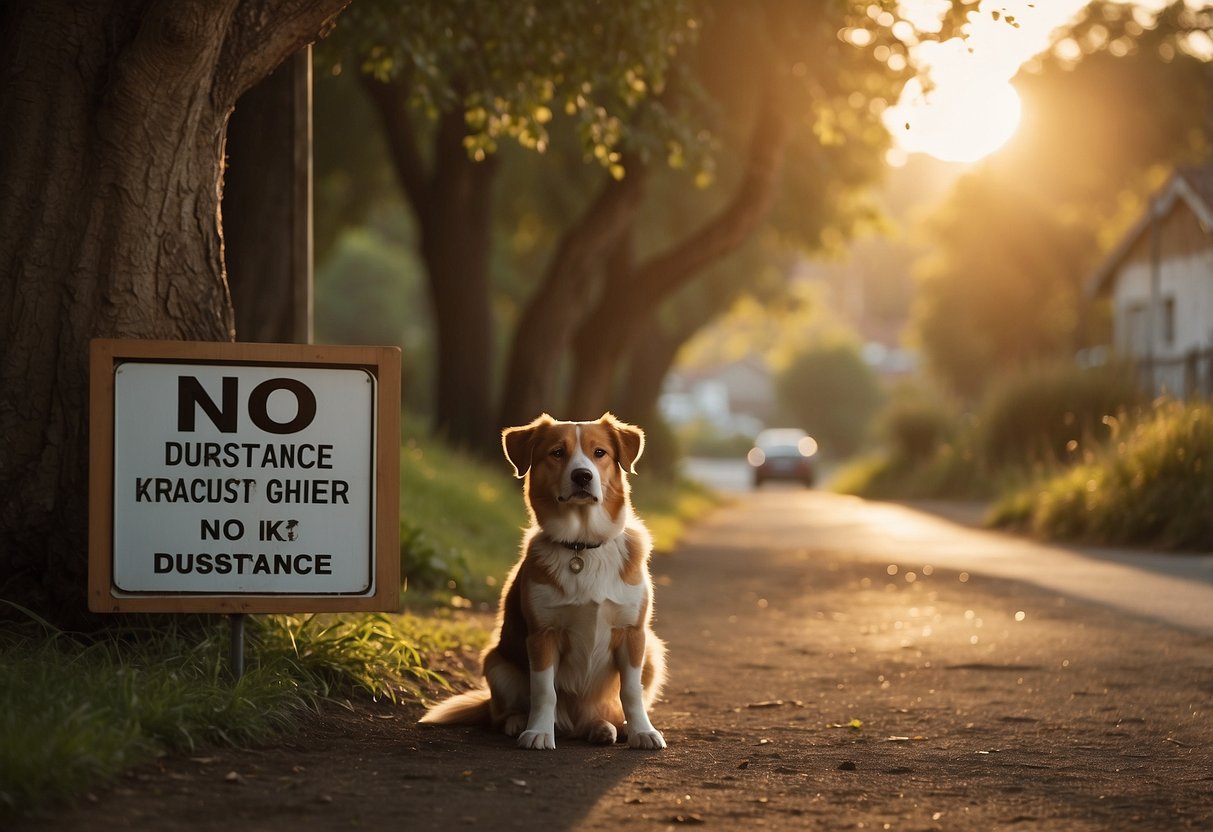
<path fill-rule="evenodd" d="M 647 320 L 645 310 L 657 308 L 705 267 L 741 246 L 767 218 L 778 192 L 788 136 L 784 102 L 776 91 L 775 84 L 765 90 L 741 182 L 724 210 L 637 268 L 609 277 L 609 289 L 586 314 L 587 324 L 573 342 L 575 369 L 568 400 L 577 410 L 600 412 L 608 405 L 611 378 L 638 338 Z M 619 298 L 627 298 L 627 303 L 620 303 Z"/>

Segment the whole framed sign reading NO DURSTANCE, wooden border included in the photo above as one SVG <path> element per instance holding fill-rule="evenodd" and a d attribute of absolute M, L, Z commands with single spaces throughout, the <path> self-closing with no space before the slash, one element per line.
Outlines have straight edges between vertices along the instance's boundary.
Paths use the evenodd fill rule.
<path fill-rule="evenodd" d="M 91 349 L 89 608 L 399 608 L 400 354 Z"/>

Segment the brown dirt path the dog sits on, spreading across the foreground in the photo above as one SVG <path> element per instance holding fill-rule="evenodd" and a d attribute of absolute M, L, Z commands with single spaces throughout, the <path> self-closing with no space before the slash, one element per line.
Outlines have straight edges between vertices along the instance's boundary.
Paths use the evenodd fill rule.
<path fill-rule="evenodd" d="M 666 751 L 335 711 L 19 828 L 1213 828 L 1213 639 L 756 517 L 721 511 L 656 564 Z"/>

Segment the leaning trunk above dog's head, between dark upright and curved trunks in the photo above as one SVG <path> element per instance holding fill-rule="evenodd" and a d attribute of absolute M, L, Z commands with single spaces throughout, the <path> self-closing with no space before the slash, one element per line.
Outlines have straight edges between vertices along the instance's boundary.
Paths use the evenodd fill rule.
<path fill-rule="evenodd" d="M 597 326 L 583 313 L 600 280 L 604 252 L 636 218 L 644 179 L 643 165 L 630 161 L 627 176 L 608 179 L 586 213 L 562 235 L 543 280 L 514 330 L 501 393 L 503 426 L 523 424 L 558 404 L 560 363 L 577 335 L 577 326 Z M 600 415 L 598 411 L 587 418 Z"/>

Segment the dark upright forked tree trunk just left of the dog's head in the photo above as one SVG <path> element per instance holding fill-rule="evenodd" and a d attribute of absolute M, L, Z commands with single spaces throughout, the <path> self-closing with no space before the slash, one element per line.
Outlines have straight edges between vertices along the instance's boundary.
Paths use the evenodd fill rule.
<path fill-rule="evenodd" d="M 427 166 L 409 116 L 408 79 L 363 76 L 378 112 L 397 178 L 421 230 L 435 334 L 434 428 L 477 452 L 497 448 L 492 422 L 492 303 L 489 255 L 497 160 L 463 147 L 463 112 L 444 113 Z"/>

